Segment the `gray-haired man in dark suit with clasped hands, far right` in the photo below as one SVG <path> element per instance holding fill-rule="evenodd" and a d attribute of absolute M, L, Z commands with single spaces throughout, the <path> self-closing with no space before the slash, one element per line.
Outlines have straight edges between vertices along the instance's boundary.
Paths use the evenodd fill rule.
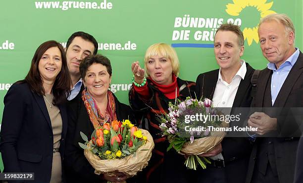
<path fill-rule="evenodd" d="M 294 25 L 285 14 L 261 19 L 258 36 L 269 63 L 260 71 L 253 107 L 275 113 L 255 112 L 248 120 L 249 126 L 258 128 L 259 137 L 254 142 L 246 183 L 293 183 L 299 136 L 290 130 L 294 118 L 288 112 L 303 107 L 303 54 L 294 45 Z"/>

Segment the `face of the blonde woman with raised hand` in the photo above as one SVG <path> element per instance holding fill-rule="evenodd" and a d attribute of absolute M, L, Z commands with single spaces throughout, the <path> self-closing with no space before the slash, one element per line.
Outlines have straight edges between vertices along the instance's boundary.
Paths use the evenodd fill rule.
<path fill-rule="evenodd" d="M 147 60 L 147 70 L 152 80 L 160 85 L 172 83 L 171 60 L 162 55 L 151 56 Z"/>

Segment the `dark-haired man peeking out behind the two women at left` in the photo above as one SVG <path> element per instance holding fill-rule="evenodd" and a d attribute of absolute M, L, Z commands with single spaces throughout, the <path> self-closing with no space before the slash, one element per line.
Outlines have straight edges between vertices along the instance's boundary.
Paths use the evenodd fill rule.
<path fill-rule="evenodd" d="M 97 54 L 98 43 L 96 39 L 85 32 L 75 32 L 72 34 L 66 44 L 66 59 L 72 81 L 71 92 L 68 100 L 81 97 L 84 87 L 80 78 L 79 66 L 81 61 L 91 54 Z"/>

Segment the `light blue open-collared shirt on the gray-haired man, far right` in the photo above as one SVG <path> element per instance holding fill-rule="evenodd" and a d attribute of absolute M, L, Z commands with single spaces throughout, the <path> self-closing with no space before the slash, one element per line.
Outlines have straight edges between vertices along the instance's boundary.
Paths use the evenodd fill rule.
<path fill-rule="evenodd" d="M 282 88 L 282 85 L 285 82 L 290 70 L 295 65 L 299 54 L 300 50 L 296 48 L 296 51 L 284 63 L 280 65 L 279 69 L 276 68 L 276 65 L 274 63 L 267 64 L 267 68 L 273 71 L 270 85 L 272 105 L 275 103 L 280 89 Z"/>

